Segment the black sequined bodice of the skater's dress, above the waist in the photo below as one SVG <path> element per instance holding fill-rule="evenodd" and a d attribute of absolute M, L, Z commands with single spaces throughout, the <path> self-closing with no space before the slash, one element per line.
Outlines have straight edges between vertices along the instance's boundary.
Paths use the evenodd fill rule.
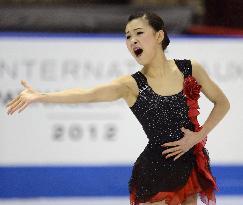
<path fill-rule="evenodd" d="M 190 68 L 179 60 L 175 60 L 175 63 L 185 79 L 191 72 Z M 183 137 L 181 127 L 194 129 L 188 118 L 188 106 L 183 90 L 174 95 L 162 96 L 154 92 L 140 71 L 132 74 L 132 77 L 137 82 L 139 94 L 130 109 L 142 125 L 149 145 L 156 147 L 180 139 Z"/>

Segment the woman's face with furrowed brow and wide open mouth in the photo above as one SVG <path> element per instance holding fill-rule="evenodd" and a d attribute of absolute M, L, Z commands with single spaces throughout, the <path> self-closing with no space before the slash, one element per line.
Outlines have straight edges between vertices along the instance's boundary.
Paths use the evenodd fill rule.
<path fill-rule="evenodd" d="M 132 56 L 141 65 L 151 62 L 158 50 L 162 50 L 163 40 L 158 32 L 143 18 L 137 18 L 126 25 L 126 45 Z"/>

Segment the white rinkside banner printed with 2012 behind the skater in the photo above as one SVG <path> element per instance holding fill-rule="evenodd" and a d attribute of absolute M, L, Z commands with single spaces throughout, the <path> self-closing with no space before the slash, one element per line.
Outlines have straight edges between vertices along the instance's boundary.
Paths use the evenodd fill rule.
<path fill-rule="evenodd" d="M 242 42 L 239 38 L 172 38 L 166 51 L 168 58 L 196 59 L 230 100 L 227 117 L 208 135 L 213 163 L 243 163 L 243 149 L 239 149 Z M 0 65 L 0 165 L 129 164 L 146 146 L 146 135 L 123 99 L 36 103 L 20 114 L 6 114 L 6 103 L 24 89 L 22 79 L 40 92 L 54 92 L 91 88 L 140 70 L 125 39 L 2 36 Z M 199 103 L 202 124 L 213 103 L 203 94 Z"/>

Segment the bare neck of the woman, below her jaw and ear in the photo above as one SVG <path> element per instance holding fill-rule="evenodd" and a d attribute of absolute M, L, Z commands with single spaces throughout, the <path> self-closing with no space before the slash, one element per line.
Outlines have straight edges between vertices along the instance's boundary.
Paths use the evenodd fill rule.
<path fill-rule="evenodd" d="M 164 52 L 157 52 L 152 61 L 144 66 L 144 74 L 150 78 L 163 78 L 168 73 L 168 63 Z"/>

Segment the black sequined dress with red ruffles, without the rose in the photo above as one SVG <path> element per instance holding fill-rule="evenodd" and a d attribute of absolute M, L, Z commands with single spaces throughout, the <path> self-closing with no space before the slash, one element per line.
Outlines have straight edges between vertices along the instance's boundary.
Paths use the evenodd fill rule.
<path fill-rule="evenodd" d="M 175 63 L 184 75 L 185 85 L 192 75 L 191 62 L 175 60 Z M 193 193 L 200 193 L 205 204 L 215 204 L 216 183 L 211 175 L 205 143 L 194 146 L 176 161 L 162 155 L 166 149 L 161 147 L 162 144 L 183 137 L 181 127 L 200 130 L 196 119 L 199 114 L 197 99 L 188 99 L 185 87 L 174 95 L 159 95 L 140 71 L 133 73 L 132 77 L 137 82 L 139 94 L 130 109 L 141 123 L 148 144 L 133 166 L 129 180 L 130 204 L 166 200 L 170 205 L 177 205 Z"/>

